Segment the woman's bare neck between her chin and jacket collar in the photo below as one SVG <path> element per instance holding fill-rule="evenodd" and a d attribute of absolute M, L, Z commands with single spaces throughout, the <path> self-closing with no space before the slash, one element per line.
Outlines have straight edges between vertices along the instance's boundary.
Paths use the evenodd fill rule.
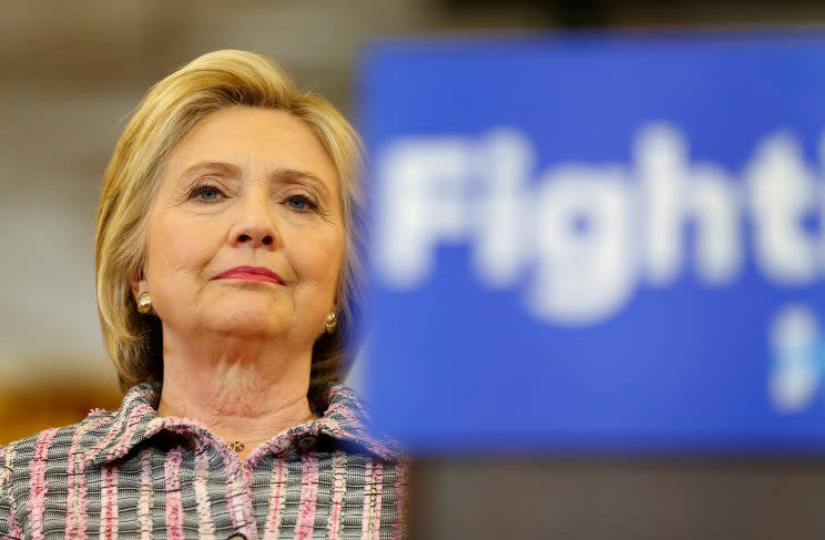
<path fill-rule="evenodd" d="M 261 442 L 315 416 L 309 408 L 312 350 L 289 354 L 271 339 L 179 337 L 164 332 L 157 415 L 204 424 L 226 444 Z"/>

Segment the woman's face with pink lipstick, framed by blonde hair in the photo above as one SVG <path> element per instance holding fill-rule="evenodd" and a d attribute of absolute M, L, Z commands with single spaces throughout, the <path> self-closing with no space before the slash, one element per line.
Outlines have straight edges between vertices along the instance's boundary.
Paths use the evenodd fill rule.
<path fill-rule="evenodd" d="M 312 346 L 344 249 L 338 175 L 317 137 L 283 111 L 224 109 L 173 150 L 133 288 L 150 292 L 164 335 Z"/>

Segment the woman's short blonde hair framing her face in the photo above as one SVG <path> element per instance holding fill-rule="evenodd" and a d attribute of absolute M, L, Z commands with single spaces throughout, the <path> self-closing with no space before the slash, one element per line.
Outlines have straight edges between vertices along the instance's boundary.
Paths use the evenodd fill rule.
<path fill-rule="evenodd" d="M 357 346 L 363 296 L 361 144 L 344 116 L 317 94 L 299 91 L 272 59 L 246 51 L 196 58 L 150 89 L 109 162 L 98 208 L 95 272 L 103 342 L 121 389 L 162 381 L 161 323 L 140 315 L 131 277 L 146 258 L 149 208 L 175 145 L 204 116 L 232 106 L 288 112 L 319 139 L 340 179 L 346 252 L 337 294 L 338 327 L 313 347 L 310 389 L 339 380 Z"/>

